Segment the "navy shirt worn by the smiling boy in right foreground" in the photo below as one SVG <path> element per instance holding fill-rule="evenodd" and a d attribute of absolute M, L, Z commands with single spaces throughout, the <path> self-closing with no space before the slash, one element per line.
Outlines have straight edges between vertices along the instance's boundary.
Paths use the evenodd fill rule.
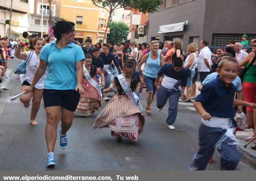
<path fill-rule="evenodd" d="M 211 116 L 233 118 L 236 114 L 233 108 L 235 93 L 234 84 L 226 87 L 218 76 L 212 82 L 204 84 L 201 94 L 196 97 L 195 101 L 201 102 Z"/>

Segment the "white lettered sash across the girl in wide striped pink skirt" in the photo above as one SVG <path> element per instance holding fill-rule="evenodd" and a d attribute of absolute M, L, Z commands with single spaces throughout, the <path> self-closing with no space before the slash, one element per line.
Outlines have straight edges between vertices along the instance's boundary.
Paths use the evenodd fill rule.
<path fill-rule="evenodd" d="M 136 93 L 132 92 L 131 88 L 129 87 L 129 85 L 127 84 L 127 82 L 124 79 L 124 75 L 123 74 L 118 75 L 117 79 L 118 79 L 120 85 L 122 86 L 125 95 L 132 101 L 133 104 L 135 104 L 135 106 L 137 106 L 137 108 L 139 108 L 142 111 L 143 109 L 140 104 L 139 97 Z M 138 104 L 137 104 L 137 102 L 138 102 Z M 140 107 L 139 107 L 139 105 L 140 105 Z"/>

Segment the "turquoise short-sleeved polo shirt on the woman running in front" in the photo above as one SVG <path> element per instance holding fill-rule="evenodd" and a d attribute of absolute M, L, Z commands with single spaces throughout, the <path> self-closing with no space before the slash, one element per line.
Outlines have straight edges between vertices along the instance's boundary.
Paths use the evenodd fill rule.
<path fill-rule="evenodd" d="M 39 54 L 48 65 L 44 89 L 74 90 L 77 85 L 76 62 L 85 59 L 84 52 L 72 42 L 60 50 L 56 42 L 46 44 Z"/>

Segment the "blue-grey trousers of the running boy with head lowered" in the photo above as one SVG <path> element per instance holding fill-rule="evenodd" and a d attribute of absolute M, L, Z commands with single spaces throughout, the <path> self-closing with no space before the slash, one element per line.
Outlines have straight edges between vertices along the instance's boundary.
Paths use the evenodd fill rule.
<path fill-rule="evenodd" d="M 166 123 L 168 125 L 174 124 L 178 113 L 178 102 L 180 98 L 180 91 L 165 88 L 160 86 L 156 93 L 156 107 L 163 108 L 169 98 L 168 117 Z"/>

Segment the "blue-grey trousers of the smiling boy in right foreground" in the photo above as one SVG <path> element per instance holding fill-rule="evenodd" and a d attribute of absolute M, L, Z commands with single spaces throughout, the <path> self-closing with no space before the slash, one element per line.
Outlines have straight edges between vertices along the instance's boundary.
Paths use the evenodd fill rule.
<path fill-rule="evenodd" d="M 235 170 L 236 165 L 241 159 L 240 153 L 237 151 L 236 145 L 232 145 L 233 140 L 227 137 L 223 139 L 226 130 L 222 128 L 212 128 L 205 126 L 203 123 L 199 126 L 199 150 L 194 155 L 188 170 L 205 170 L 210 158 L 212 157 L 215 144 L 220 154 L 220 169 Z M 231 143 L 231 144 L 230 144 Z"/>

